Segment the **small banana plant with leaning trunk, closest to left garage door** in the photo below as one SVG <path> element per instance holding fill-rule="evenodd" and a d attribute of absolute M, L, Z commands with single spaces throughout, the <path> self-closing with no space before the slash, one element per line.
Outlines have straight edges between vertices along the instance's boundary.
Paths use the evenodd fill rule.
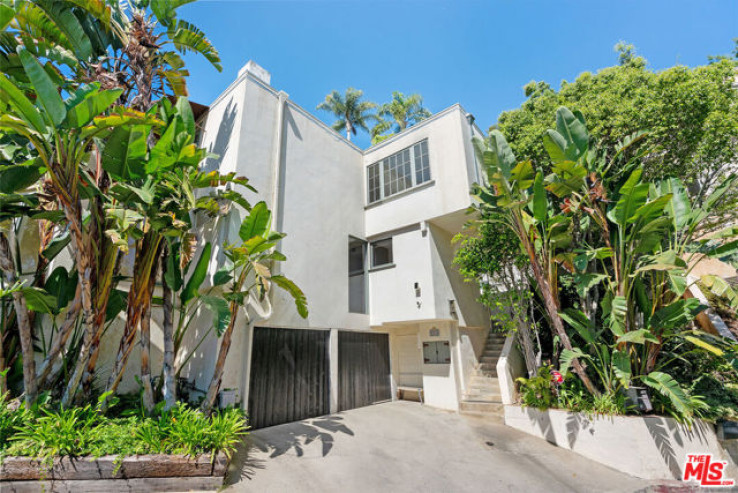
<path fill-rule="evenodd" d="M 292 296 L 297 313 L 301 317 L 308 316 L 307 299 L 302 290 L 287 277 L 272 274 L 272 266 L 285 261 L 286 257 L 276 250 L 277 244 L 285 235 L 272 231 L 271 222 L 271 211 L 265 202 L 259 202 L 248 212 L 239 228 L 238 235 L 241 241 L 225 247 L 225 254 L 231 266 L 230 281 L 224 294 L 229 303 L 230 318 L 220 337 L 213 376 L 201 406 L 203 411 L 209 412 L 215 404 L 231 347 L 233 330 L 242 309 L 248 320 L 249 304 L 265 301 L 273 287 L 277 286 Z"/>

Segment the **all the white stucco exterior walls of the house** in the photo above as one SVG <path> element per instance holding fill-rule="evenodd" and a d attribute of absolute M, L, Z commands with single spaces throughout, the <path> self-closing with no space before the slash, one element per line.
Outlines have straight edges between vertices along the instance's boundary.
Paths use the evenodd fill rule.
<path fill-rule="evenodd" d="M 275 290 L 273 311 L 267 320 L 251 322 L 244 312 L 234 332 L 222 388 L 241 389 L 249 377 L 249 339 L 254 323 L 285 328 L 369 330 L 388 322 L 419 322 L 418 342 L 431 326 L 450 340 L 452 355 L 459 354 L 456 322 L 450 320 L 448 300 L 456 301 L 459 324 L 480 325 L 478 314 L 467 310 L 476 294 L 464 289 L 450 262 L 451 235 L 459 225 L 457 215 L 470 205 L 469 187 L 474 176 L 469 153 L 469 124 L 464 110 L 452 106 L 402 134 L 362 152 L 325 124 L 268 86 L 248 70 L 210 105 L 203 121 L 200 144 L 217 157 L 208 158 L 206 170 L 235 171 L 246 176 L 257 192 L 245 191 L 252 203 L 265 200 L 275 211 L 274 227 L 286 232 L 280 250 L 288 260 L 277 271 L 295 281 L 305 292 L 310 316 L 301 319 L 292 299 Z M 378 205 L 366 207 L 366 166 L 414 143 L 428 139 L 431 180 L 422 189 Z M 199 249 L 213 244 L 211 275 L 224 262 L 222 245 L 235 241 L 244 212 L 234 208 L 217 227 L 205 219 L 196 224 Z M 449 218 L 454 218 L 450 221 Z M 450 229 L 449 229 L 450 228 Z M 368 314 L 349 312 L 348 240 L 392 236 L 395 266 L 367 275 Z M 33 250 L 33 247 L 29 247 Z M 69 263 L 60 256 L 57 263 Z M 415 283 L 421 294 L 416 296 Z M 207 285 L 207 281 L 206 281 Z M 461 299 L 463 297 L 464 299 Z M 161 368 L 163 343 L 161 311 L 153 310 L 152 373 Z M 430 325 L 427 325 L 430 324 Z M 211 316 L 203 311 L 193 321 L 184 341 L 185 353 L 211 327 Z M 427 325 L 427 326 L 426 326 Z M 103 339 L 99 385 L 112 368 L 123 326 L 123 315 Z M 185 366 L 183 377 L 205 389 L 212 375 L 219 341 L 213 336 L 197 349 Z M 456 358 L 456 356 L 454 356 Z M 457 408 L 458 371 L 451 365 L 422 365 L 422 384 L 427 403 Z M 124 379 L 123 391 L 135 391 L 140 353 L 134 349 Z"/>

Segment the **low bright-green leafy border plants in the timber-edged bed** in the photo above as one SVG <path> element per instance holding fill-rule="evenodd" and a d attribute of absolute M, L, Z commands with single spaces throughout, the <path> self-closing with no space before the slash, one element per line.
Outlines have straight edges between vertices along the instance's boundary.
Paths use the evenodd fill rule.
<path fill-rule="evenodd" d="M 26 456 L 50 465 L 58 456 L 184 454 L 218 452 L 231 457 L 248 429 L 241 410 L 208 416 L 179 403 L 147 417 L 139 409 L 106 415 L 100 407 L 40 407 L 17 410 L 0 398 L 0 456 Z"/>

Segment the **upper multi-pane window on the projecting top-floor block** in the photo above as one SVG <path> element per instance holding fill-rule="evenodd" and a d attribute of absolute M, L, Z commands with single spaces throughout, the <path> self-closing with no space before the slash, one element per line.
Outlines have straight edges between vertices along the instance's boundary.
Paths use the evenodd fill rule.
<path fill-rule="evenodd" d="M 370 204 L 430 181 L 428 140 L 369 165 L 366 174 Z"/>

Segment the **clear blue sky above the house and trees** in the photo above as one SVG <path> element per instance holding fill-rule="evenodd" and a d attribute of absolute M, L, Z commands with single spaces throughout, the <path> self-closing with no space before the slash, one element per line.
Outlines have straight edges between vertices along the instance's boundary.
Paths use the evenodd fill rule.
<path fill-rule="evenodd" d="M 620 40 L 663 69 L 704 64 L 738 37 L 736 0 L 201 0 L 180 15 L 223 60 L 218 73 L 188 56 L 194 101 L 212 102 L 253 59 L 328 123 L 315 106 L 353 86 L 375 102 L 418 92 L 433 112 L 459 102 L 484 130 L 524 101 L 527 82 L 558 87 L 614 65 Z"/>

